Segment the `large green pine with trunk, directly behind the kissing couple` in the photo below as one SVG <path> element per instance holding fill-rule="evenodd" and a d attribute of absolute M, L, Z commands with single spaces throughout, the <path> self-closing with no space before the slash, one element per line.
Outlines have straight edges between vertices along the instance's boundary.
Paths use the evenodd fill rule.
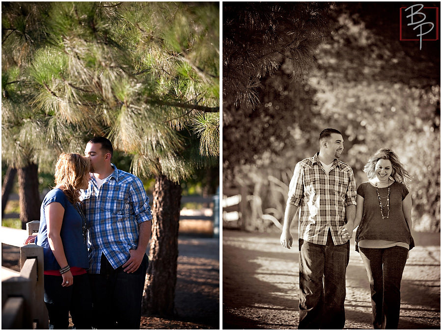
<path fill-rule="evenodd" d="M 2 54 L 17 43 L 30 50 L 26 63 L 3 68 L 3 94 L 20 90 L 29 113 L 27 130 L 20 116 L 3 116 L 5 142 L 21 132 L 37 163 L 52 164 L 54 146 L 81 153 L 104 135 L 133 155 L 137 176 L 156 178 L 144 303 L 172 313 L 179 183 L 219 155 L 218 3 L 2 3 L 2 13 Z M 44 22 L 38 38 L 16 27 L 28 21 Z"/>

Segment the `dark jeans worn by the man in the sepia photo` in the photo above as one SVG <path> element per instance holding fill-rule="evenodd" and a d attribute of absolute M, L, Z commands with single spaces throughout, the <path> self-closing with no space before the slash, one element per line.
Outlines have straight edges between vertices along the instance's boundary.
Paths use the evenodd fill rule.
<path fill-rule="evenodd" d="M 334 245 L 300 239 L 298 329 L 343 329 L 345 325 L 345 271 L 350 242 Z"/>

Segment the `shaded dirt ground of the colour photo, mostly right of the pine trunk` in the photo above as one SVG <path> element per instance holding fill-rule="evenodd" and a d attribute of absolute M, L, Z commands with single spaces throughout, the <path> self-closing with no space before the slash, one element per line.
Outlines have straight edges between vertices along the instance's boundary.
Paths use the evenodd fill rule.
<path fill-rule="evenodd" d="M 2 244 L 1 265 L 20 271 L 18 248 Z M 220 328 L 220 239 L 192 235 L 178 238 L 175 315 L 142 316 L 140 329 Z"/>

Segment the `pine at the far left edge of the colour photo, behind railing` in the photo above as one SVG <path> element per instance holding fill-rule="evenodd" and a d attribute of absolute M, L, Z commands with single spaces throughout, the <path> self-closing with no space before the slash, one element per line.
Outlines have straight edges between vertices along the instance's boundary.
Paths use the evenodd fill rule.
<path fill-rule="evenodd" d="M 16 6 L 8 13 L 4 9 L 8 4 L 2 4 L 2 61 L 1 61 L 1 85 L 2 85 L 2 157 L 10 165 L 10 171 L 3 182 L 2 207 L 6 201 L 3 197 L 9 196 L 14 174 L 19 175 L 21 188 L 20 196 L 20 219 L 22 229 L 26 229 L 26 223 L 40 218 L 40 197 L 38 186 L 38 162 L 32 146 L 28 145 L 27 130 L 31 128 L 31 117 L 41 114 L 33 114 L 28 105 L 31 97 L 28 95 L 28 85 L 22 84 L 21 73 L 29 64 L 29 54 L 35 51 L 35 45 L 41 39 L 46 16 L 46 8 L 35 5 Z M 42 22 L 37 18 L 42 18 Z M 12 24 L 13 22 L 13 24 Z M 8 45 L 3 48 L 3 45 Z M 38 47 L 38 46 L 37 46 Z M 38 134 L 39 130 L 35 132 Z M 14 169 L 14 170 L 12 170 Z M 4 204 L 3 204 L 4 203 Z"/>

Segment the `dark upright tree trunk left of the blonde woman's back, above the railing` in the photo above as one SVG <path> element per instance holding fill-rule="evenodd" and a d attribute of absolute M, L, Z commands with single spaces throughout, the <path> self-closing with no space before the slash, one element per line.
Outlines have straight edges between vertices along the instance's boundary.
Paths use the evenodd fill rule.
<path fill-rule="evenodd" d="M 26 223 L 40 219 L 40 194 L 38 192 L 38 167 L 30 163 L 25 168 L 18 169 L 20 220 L 22 229 Z"/>

